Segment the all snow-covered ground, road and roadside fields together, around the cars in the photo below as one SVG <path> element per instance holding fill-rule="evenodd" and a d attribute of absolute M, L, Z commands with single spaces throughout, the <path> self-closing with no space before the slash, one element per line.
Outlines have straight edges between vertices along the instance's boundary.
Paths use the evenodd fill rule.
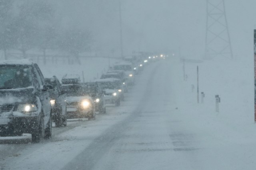
<path fill-rule="evenodd" d="M 98 62 L 85 63 L 104 68 Z M 199 104 L 196 66 L 199 92 L 205 93 Z M 62 65 L 40 67 L 44 74 L 57 76 L 65 70 Z M 254 170 L 253 62 L 185 63 L 185 74 L 186 81 L 178 58 L 150 63 L 121 106 L 108 107 L 106 115 L 53 128 L 52 139 L 43 143 L 9 144 L 0 138 L 1 168 Z"/>

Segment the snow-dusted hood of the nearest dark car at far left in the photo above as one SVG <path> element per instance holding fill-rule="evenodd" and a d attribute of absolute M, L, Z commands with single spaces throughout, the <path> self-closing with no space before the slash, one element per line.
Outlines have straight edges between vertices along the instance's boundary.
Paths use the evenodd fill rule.
<path fill-rule="evenodd" d="M 32 99 L 34 88 L 15 88 L 0 90 L 0 105 L 28 102 Z"/>

